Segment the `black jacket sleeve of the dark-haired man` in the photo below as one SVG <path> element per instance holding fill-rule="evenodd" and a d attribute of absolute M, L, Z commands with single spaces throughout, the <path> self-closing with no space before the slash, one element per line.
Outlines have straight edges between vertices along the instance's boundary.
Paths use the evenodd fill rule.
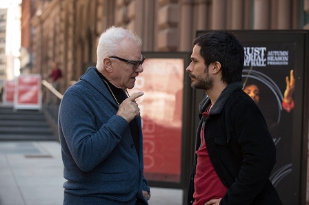
<path fill-rule="evenodd" d="M 276 148 L 255 102 L 244 100 L 230 109 L 230 122 L 235 128 L 233 133 L 241 149 L 242 164 L 220 204 L 252 204 L 268 182 L 276 162 Z"/>

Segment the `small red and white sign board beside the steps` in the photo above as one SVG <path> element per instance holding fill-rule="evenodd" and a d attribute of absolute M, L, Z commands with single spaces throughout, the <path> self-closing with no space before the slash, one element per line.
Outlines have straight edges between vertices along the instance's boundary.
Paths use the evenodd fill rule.
<path fill-rule="evenodd" d="M 21 75 L 16 78 L 14 109 L 41 109 L 41 75 Z"/>

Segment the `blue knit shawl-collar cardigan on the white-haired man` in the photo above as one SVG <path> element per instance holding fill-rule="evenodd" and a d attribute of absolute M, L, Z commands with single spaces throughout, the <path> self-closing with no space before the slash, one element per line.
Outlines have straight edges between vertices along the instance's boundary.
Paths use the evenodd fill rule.
<path fill-rule="evenodd" d="M 128 122 L 117 116 L 118 105 L 90 67 L 68 88 L 59 108 L 59 136 L 67 182 L 63 204 L 148 204 L 143 177 L 143 137 L 139 156 Z"/>

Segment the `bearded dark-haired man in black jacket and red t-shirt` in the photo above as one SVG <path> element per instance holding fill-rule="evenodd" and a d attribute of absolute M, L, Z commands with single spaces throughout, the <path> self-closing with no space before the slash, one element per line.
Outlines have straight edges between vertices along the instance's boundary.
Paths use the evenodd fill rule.
<path fill-rule="evenodd" d="M 243 90 L 243 45 L 212 31 L 193 42 L 187 72 L 204 89 L 188 204 L 282 204 L 268 177 L 276 148 L 256 103 Z"/>

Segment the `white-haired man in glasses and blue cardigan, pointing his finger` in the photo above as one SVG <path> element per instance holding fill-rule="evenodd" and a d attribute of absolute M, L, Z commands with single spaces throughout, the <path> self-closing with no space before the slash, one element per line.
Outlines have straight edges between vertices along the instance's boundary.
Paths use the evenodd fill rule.
<path fill-rule="evenodd" d="M 101 34 L 97 66 L 64 94 L 59 136 L 64 164 L 63 204 L 148 204 L 143 177 L 141 117 L 128 95 L 143 72 L 141 39 L 123 28 Z"/>

